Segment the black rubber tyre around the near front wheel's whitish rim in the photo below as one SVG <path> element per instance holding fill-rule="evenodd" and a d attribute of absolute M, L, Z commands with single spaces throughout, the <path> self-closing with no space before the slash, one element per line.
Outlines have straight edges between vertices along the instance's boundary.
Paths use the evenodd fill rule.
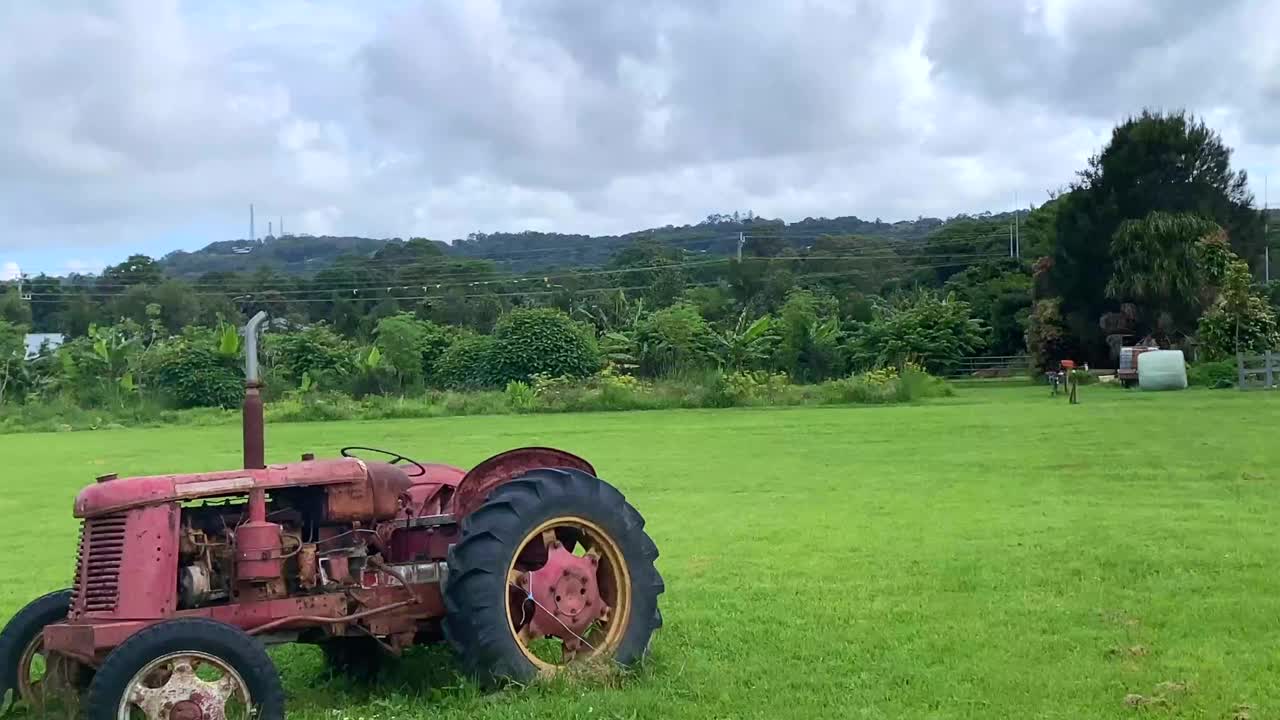
<path fill-rule="evenodd" d="M 138 670 L 156 657 L 183 651 L 211 655 L 239 673 L 257 711 L 255 720 L 284 720 L 280 674 L 262 643 L 239 628 L 205 618 L 165 620 L 120 643 L 88 685 L 84 720 L 115 720 L 120 698 Z"/>

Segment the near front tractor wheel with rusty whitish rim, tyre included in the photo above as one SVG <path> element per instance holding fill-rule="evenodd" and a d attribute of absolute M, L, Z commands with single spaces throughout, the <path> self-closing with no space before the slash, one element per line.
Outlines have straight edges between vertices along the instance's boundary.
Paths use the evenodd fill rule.
<path fill-rule="evenodd" d="M 218 676 L 200 676 L 202 670 L 210 669 Z M 224 679 L 228 679 L 225 685 L 221 684 Z M 131 698 L 159 703 L 161 696 L 195 697 L 196 693 L 186 689 L 211 687 L 218 688 L 223 702 L 247 700 L 250 707 L 242 708 L 244 717 L 284 720 L 280 674 L 262 643 L 239 628 L 205 618 L 165 620 L 120 643 L 90 683 L 84 717 L 118 720 L 128 717 L 133 708 L 148 711 L 141 703 L 131 706 L 136 702 Z M 232 691 L 223 689 L 232 687 Z M 178 714 L 179 710 L 165 712 Z M 205 708 L 200 712 L 205 717 L 219 716 Z M 239 716 L 230 710 L 228 715 Z"/>

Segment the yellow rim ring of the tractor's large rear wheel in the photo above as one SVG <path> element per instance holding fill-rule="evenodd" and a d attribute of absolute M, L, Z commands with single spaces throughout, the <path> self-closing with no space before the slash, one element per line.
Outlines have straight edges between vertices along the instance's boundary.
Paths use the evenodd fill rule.
<path fill-rule="evenodd" d="M 530 615 L 531 611 L 536 614 L 539 610 L 550 615 L 550 610 L 531 600 L 525 583 L 529 582 L 531 573 L 538 571 L 539 562 L 545 564 L 550 552 L 561 546 L 576 556 L 598 559 L 594 579 L 599 597 L 609 610 L 607 619 L 593 623 L 581 634 L 572 633 L 564 625 L 566 633 L 580 638 L 588 651 L 571 652 L 568 644 L 562 641 L 561 657 L 557 661 L 554 638 L 550 638 L 550 646 L 547 644 L 549 638 L 539 637 L 532 629 Z M 604 528 L 585 518 L 562 515 L 539 524 L 520 541 L 507 566 L 507 628 L 512 639 L 525 657 L 544 674 L 556 673 L 573 661 L 612 657 L 622 644 L 622 637 L 631 619 L 631 573 L 622 557 L 622 548 Z"/>

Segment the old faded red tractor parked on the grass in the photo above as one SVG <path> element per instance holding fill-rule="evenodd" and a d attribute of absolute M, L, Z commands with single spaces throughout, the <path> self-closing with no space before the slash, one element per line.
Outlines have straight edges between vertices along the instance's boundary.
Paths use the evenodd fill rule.
<path fill-rule="evenodd" d="M 90 720 L 276 720 L 274 643 L 358 673 L 447 641 L 489 687 L 645 655 L 658 548 L 581 457 L 526 447 L 462 471 L 344 447 L 266 465 L 264 319 L 244 328 L 244 468 L 81 491 L 74 584 L 5 626 L 0 694 L 74 698 Z"/>

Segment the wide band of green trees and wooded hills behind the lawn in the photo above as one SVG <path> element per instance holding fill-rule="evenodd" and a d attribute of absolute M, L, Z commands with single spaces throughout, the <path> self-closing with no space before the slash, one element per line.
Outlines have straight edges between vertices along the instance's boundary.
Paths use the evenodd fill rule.
<path fill-rule="evenodd" d="M 1260 282 L 1277 225 L 1216 132 L 1144 111 L 1016 220 L 748 213 L 611 237 L 291 236 L 28 278 L 29 295 L 12 283 L 0 293 L 0 352 L 28 331 L 68 342 L 33 361 L 10 352 L 0 400 L 227 405 L 238 363 L 228 328 L 259 310 L 273 318 L 274 387 L 349 396 L 600 373 L 808 386 L 947 373 L 977 355 L 1114 366 L 1142 338 L 1215 360 L 1277 343 L 1280 291 Z"/>

